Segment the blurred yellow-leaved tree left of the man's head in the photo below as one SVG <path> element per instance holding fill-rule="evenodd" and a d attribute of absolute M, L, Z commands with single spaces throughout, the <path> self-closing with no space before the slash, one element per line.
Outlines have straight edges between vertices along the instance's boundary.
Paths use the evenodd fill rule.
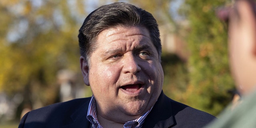
<path fill-rule="evenodd" d="M 58 71 L 80 74 L 77 35 L 84 8 L 79 0 L 1 1 L 0 92 L 22 94 L 33 109 L 56 102 Z"/>

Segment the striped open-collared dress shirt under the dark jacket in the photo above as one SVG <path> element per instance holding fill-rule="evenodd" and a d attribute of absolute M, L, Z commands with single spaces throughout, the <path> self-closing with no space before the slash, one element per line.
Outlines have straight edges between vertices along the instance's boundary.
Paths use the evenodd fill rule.
<path fill-rule="evenodd" d="M 149 114 L 149 112 L 151 111 L 151 109 L 148 110 L 148 112 L 146 112 L 145 114 L 143 114 L 139 118 L 126 122 L 124 124 L 124 128 L 142 128 L 142 124 L 144 123 L 144 120 L 147 117 L 147 115 Z M 103 128 L 100 125 L 100 123 L 98 122 L 98 119 L 97 119 L 96 100 L 95 100 L 93 95 L 92 95 L 92 98 L 91 98 L 90 103 L 89 103 L 89 108 L 88 108 L 86 118 L 87 118 L 88 121 L 91 122 L 91 127 L 90 128 Z"/>

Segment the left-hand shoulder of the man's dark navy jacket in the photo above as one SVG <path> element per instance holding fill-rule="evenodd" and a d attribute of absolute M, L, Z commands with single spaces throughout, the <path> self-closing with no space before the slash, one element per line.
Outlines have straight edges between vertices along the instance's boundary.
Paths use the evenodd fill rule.
<path fill-rule="evenodd" d="M 51 104 L 28 112 L 20 121 L 19 128 L 28 125 L 29 128 L 58 127 L 69 124 L 76 118 L 86 118 L 89 98 L 79 98 L 67 102 Z"/>

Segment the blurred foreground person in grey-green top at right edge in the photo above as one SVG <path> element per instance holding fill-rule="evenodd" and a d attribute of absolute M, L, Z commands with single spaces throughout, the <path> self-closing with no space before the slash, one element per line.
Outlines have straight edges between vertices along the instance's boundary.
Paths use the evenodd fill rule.
<path fill-rule="evenodd" d="M 256 128 L 256 2 L 236 0 L 232 8 L 220 11 L 228 20 L 230 68 L 242 95 L 232 110 L 224 110 L 209 128 Z"/>

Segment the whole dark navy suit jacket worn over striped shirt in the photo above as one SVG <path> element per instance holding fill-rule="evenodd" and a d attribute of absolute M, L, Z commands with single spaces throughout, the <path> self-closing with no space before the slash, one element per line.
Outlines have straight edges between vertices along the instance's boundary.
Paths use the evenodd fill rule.
<path fill-rule="evenodd" d="M 90 128 L 86 119 L 90 98 L 56 103 L 28 112 L 18 128 Z M 143 128 L 200 128 L 214 116 L 168 98 L 163 92 Z"/>

